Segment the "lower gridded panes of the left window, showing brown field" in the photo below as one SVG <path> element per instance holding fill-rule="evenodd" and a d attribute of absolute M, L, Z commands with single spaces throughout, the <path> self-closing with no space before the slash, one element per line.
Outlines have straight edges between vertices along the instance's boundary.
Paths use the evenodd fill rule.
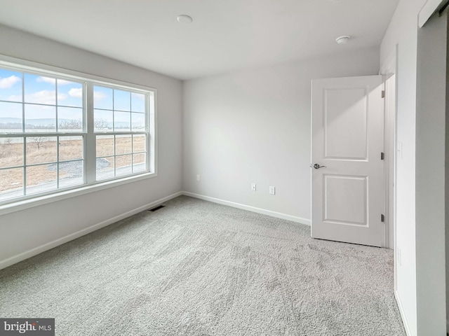
<path fill-rule="evenodd" d="M 0 157 L 0 202 L 84 183 L 82 136 L 0 136 Z"/>

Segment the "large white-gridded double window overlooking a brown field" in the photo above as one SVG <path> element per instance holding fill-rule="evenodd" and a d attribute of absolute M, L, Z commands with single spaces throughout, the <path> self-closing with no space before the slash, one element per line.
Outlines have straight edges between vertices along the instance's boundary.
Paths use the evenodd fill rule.
<path fill-rule="evenodd" d="M 0 64 L 0 205 L 154 172 L 154 95 Z"/>

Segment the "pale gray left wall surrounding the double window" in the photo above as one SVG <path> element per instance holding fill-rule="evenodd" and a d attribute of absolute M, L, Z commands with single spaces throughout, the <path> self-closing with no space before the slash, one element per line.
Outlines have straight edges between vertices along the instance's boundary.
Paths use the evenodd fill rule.
<path fill-rule="evenodd" d="M 0 25 L 0 54 L 158 90 L 158 176 L 0 216 L 0 265 L 181 190 L 182 82 Z M 15 260 L 15 259 L 14 259 Z M 17 260 L 15 260 L 17 261 Z M 3 262 L 3 264 L 2 264 Z"/>

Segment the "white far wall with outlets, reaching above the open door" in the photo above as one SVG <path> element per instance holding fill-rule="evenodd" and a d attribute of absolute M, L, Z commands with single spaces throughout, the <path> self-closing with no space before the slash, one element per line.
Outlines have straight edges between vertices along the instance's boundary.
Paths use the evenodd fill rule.
<path fill-rule="evenodd" d="M 370 49 L 186 81 L 183 190 L 309 223 L 311 79 L 374 75 L 378 57 Z"/>

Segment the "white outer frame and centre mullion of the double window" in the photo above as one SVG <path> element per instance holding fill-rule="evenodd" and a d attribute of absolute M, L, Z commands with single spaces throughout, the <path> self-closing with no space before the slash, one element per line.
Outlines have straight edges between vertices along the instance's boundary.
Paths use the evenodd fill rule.
<path fill-rule="evenodd" d="M 73 186 L 64 189 L 55 189 L 48 191 L 46 193 L 39 193 L 34 195 L 29 195 L 29 197 L 20 197 L 18 199 L 11 199 L 7 203 L 0 205 L 0 216 L 4 214 L 9 214 L 15 211 L 20 211 L 23 209 L 28 209 L 31 207 L 37 207 L 39 205 L 47 204 L 50 202 L 58 202 L 60 200 L 65 200 L 67 198 L 76 197 L 79 195 L 84 195 L 87 193 L 94 193 L 99 190 L 106 188 L 112 188 L 116 186 L 121 186 L 126 183 L 133 183 L 135 181 L 141 181 L 144 179 L 150 179 L 157 176 L 157 90 L 153 87 L 147 87 L 145 85 L 138 85 L 135 83 L 128 83 L 121 80 L 114 80 L 110 78 L 100 77 L 91 75 L 88 73 L 81 73 L 79 71 L 72 71 L 68 69 L 62 69 L 57 66 L 50 66 L 46 64 L 40 64 L 36 62 L 30 62 L 24 59 L 18 59 L 15 57 L 8 57 L 0 55 L 0 66 L 16 69 L 18 71 L 25 71 L 29 73 L 39 73 L 40 75 L 47 75 L 56 78 L 65 78 L 68 80 L 76 80 L 77 82 L 84 83 L 85 92 L 87 92 L 88 85 L 91 85 L 93 92 L 93 85 L 112 87 L 118 90 L 130 90 L 133 92 L 141 92 L 146 94 L 146 102 L 148 104 L 147 113 L 147 172 L 135 173 L 126 176 L 114 177 L 112 179 L 95 181 L 96 172 L 95 164 L 89 165 L 89 167 L 94 167 L 94 169 L 88 170 L 88 164 L 86 162 L 95 162 L 96 153 L 95 150 L 87 151 L 87 147 L 95 148 L 95 137 L 97 135 L 107 135 L 108 133 L 101 134 L 94 132 L 93 130 L 93 94 L 84 97 L 85 102 L 83 102 L 83 113 L 84 113 L 84 123 L 83 131 L 76 134 L 77 136 L 85 136 L 84 141 L 84 183 L 79 186 Z M 152 93 L 149 94 L 149 93 Z M 87 129 L 85 129 L 87 127 Z M 23 134 L 28 136 L 28 134 Z M 58 134 L 64 136 L 64 133 Z M 53 136 L 53 132 L 52 132 Z M 25 146 L 25 145 L 24 145 Z M 24 186 L 25 188 L 25 186 Z"/>

